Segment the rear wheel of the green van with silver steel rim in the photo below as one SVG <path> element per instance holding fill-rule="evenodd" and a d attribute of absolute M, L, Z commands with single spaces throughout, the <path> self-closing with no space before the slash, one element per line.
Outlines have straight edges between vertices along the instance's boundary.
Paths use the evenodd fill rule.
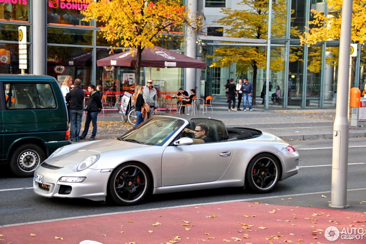
<path fill-rule="evenodd" d="M 42 148 L 34 144 L 24 144 L 11 155 L 10 170 L 19 177 L 32 177 L 33 171 L 44 160 Z"/>

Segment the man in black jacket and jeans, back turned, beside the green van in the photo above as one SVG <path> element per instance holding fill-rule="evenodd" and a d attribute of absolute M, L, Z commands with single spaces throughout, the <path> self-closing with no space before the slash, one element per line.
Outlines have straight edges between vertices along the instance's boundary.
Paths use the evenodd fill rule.
<path fill-rule="evenodd" d="M 66 95 L 66 103 L 70 102 L 70 136 L 71 141 L 80 140 L 81 119 L 83 117 L 84 91 L 81 89 L 81 80 L 75 80 L 74 88 Z"/>

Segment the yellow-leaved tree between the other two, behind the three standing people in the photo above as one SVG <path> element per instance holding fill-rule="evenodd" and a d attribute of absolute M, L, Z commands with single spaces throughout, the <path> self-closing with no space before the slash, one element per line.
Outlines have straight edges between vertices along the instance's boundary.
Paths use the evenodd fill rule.
<path fill-rule="evenodd" d="M 244 10 L 233 8 L 221 8 L 221 13 L 226 16 L 214 21 L 225 26 L 224 36 L 237 38 L 268 38 L 268 0 L 242 0 L 238 5 L 245 6 Z M 286 36 L 286 1 L 277 0 L 272 5 L 272 37 L 283 38 Z M 291 33 L 297 34 L 296 27 L 291 27 Z M 281 54 L 281 47 L 271 49 L 270 69 L 280 71 L 284 69 L 284 57 Z M 247 67 L 244 70 L 253 70 L 253 93 L 256 94 L 258 69 L 266 69 L 266 49 L 262 47 L 220 47 L 214 50 L 214 58 L 211 67 L 228 67 L 236 63 L 237 67 Z M 290 59 L 297 59 L 297 55 L 290 55 Z M 239 70 L 239 73 L 241 70 Z M 253 100 L 255 105 L 255 99 Z"/>

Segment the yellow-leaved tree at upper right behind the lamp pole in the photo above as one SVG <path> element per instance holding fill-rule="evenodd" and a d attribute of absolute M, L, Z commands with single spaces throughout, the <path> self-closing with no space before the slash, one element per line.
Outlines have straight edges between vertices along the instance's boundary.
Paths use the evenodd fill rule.
<path fill-rule="evenodd" d="M 328 15 L 323 12 L 311 10 L 314 20 L 309 21 L 311 27 L 306 27 L 308 32 L 300 35 L 300 42 L 308 46 L 318 41 L 337 41 L 340 37 L 342 0 L 327 0 Z M 353 0 L 352 5 L 351 41 L 363 44 L 366 41 L 366 0 Z M 337 49 L 337 48 L 336 48 Z M 327 50 L 328 51 L 328 50 Z M 333 50 L 333 53 L 335 50 Z M 332 60 L 334 62 L 334 58 Z M 329 59 L 326 59 L 329 63 Z M 316 65 L 311 65 L 315 67 Z M 317 66 L 320 70 L 321 65 Z M 351 84 L 355 79 L 356 57 L 352 58 Z"/>

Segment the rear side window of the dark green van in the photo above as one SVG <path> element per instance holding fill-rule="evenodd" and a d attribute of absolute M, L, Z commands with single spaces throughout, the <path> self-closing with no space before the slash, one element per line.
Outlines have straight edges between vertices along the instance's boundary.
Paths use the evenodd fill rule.
<path fill-rule="evenodd" d="M 49 83 L 4 83 L 7 110 L 56 108 Z"/>

